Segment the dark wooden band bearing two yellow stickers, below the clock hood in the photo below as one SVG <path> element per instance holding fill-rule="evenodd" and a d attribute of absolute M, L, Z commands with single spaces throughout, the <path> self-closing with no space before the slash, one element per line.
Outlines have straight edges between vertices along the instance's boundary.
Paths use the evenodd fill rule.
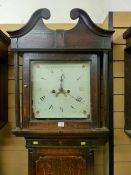
<path fill-rule="evenodd" d="M 98 136 L 99 137 L 99 136 Z M 107 135 L 105 135 L 105 138 Z M 34 141 L 37 141 L 37 144 L 34 144 Z M 84 142 L 84 145 L 81 145 L 81 142 Z M 27 138 L 26 139 L 26 147 L 28 148 L 42 148 L 42 147 L 88 147 L 95 149 L 96 145 L 101 145 L 106 143 L 106 140 L 104 142 L 99 142 L 97 138 L 97 134 L 94 135 L 94 137 L 90 138 L 82 138 L 82 137 L 77 137 L 75 139 L 72 138 L 61 138 L 60 136 L 58 138 L 54 137 L 53 139 L 46 138 L 46 136 L 43 138 Z"/>

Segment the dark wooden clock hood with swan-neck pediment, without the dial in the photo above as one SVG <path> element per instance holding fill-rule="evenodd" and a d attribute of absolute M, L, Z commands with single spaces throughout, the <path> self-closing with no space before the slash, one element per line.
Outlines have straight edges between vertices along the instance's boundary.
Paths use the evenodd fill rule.
<path fill-rule="evenodd" d="M 73 29 L 51 30 L 43 23 L 42 18 L 48 19 L 50 13 L 47 9 L 36 11 L 29 22 L 20 30 L 8 32 L 11 36 L 11 49 L 15 53 L 16 60 L 16 134 L 39 135 L 63 133 L 88 133 L 91 128 L 100 128 L 108 133 L 109 129 L 109 54 L 113 31 L 106 31 L 97 27 L 89 16 L 80 9 L 71 11 L 71 18 L 79 18 Z M 23 113 L 22 127 L 20 127 L 19 115 L 19 82 L 18 59 L 23 54 Z M 30 60 L 52 61 L 56 57 L 67 61 L 66 56 L 71 55 L 70 60 L 86 60 L 86 55 L 96 54 L 96 66 L 92 66 L 91 99 L 92 121 L 80 122 L 65 120 L 65 127 L 58 128 L 58 121 L 31 121 L 30 118 Z M 56 56 L 52 56 L 56 55 Z M 82 56 L 83 55 L 83 56 Z M 85 55 L 85 56 L 84 56 Z M 72 57 L 72 58 L 71 58 Z M 85 57 L 85 58 L 84 58 Z M 80 130 L 79 130 L 80 129 Z M 48 132 L 50 130 L 50 132 Z M 78 135 L 77 133 L 77 135 Z"/>

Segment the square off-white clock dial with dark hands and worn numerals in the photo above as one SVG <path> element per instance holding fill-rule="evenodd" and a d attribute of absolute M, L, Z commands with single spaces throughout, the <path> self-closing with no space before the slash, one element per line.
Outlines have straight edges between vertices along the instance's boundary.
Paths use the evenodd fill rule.
<path fill-rule="evenodd" d="M 31 63 L 32 116 L 91 120 L 90 62 Z"/>

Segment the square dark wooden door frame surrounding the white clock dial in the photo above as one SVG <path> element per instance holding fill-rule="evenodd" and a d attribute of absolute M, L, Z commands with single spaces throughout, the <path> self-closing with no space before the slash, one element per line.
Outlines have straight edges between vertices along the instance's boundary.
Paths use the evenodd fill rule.
<path fill-rule="evenodd" d="M 95 57 L 93 57 L 95 55 Z M 25 53 L 23 55 L 23 127 L 30 129 L 58 129 L 58 123 L 64 122 L 64 128 L 89 129 L 100 126 L 100 107 L 99 107 L 99 83 L 100 83 L 100 55 L 95 53 Z M 32 61 L 67 61 L 67 62 L 86 62 L 90 61 L 90 93 L 91 93 L 91 114 L 92 120 L 87 119 L 32 119 L 31 118 L 31 62 Z M 27 88 L 25 88 L 27 85 Z M 95 93 L 94 93 L 95 92 Z M 28 120 L 28 122 L 27 122 Z M 28 126 L 27 126 L 28 123 Z M 26 125 L 24 125 L 26 124 Z M 38 127 L 37 127 L 38 126 Z"/>

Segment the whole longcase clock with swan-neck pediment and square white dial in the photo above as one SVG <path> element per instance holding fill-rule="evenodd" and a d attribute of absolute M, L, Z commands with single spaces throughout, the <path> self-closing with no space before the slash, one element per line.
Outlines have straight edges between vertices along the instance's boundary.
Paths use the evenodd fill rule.
<path fill-rule="evenodd" d="M 78 18 L 70 30 L 49 29 L 43 19 L 50 12 L 39 9 L 24 27 L 8 32 L 16 79 L 13 133 L 26 139 L 29 175 L 94 175 L 94 150 L 110 137 L 114 31 L 99 28 L 81 9 L 70 15 Z"/>

